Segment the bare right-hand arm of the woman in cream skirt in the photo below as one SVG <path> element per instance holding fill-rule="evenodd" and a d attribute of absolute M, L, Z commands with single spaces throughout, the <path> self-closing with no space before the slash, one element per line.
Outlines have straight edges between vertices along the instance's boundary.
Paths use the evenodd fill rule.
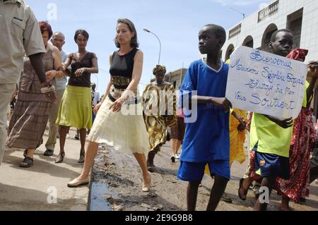
<path fill-rule="evenodd" d="M 128 87 L 123 92 L 122 97 L 119 97 L 119 99 L 112 104 L 110 109 L 113 109 L 113 111 L 120 111 L 120 109 L 122 109 L 122 104 L 129 99 L 129 97 L 132 95 L 131 93 L 133 93 L 134 90 L 136 90 L 136 87 L 139 85 L 142 71 L 143 52 L 139 50 L 136 52 L 136 56 L 134 58 L 134 71 L 132 73 L 131 83 L 129 83 Z"/>

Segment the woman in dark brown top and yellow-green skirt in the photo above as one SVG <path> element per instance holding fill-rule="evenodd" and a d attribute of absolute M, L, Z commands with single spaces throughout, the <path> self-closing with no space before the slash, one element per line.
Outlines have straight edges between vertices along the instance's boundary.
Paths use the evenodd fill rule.
<path fill-rule="evenodd" d="M 93 52 L 86 51 L 88 38 L 86 30 L 76 30 L 74 40 L 78 45 L 78 52 L 69 54 L 63 65 L 65 70 L 71 65 L 71 77 L 59 106 L 57 124 L 60 152 L 55 163 L 64 160 L 66 133 L 71 126 L 79 130 L 81 138 L 78 163 L 83 163 L 85 159 L 86 129 L 92 127 L 90 74 L 98 73 L 97 56 Z"/>

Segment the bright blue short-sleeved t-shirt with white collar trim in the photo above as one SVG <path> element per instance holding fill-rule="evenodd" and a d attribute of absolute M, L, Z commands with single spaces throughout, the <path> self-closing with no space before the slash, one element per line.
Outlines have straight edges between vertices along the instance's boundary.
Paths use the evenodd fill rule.
<path fill-rule="evenodd" d="M 204 61 L 194 61 L 185 75 L 180 87 L 179 104 L 187 97 L 187 92 L 197 91 L 196 95 L 225 97 L 228 80 L 228 64 L 222 62 L 219 71 Z M 193 94 L 195 95 L 195 94 Z M 191 95 L 189 95 L 189 98 Z M 192 104 L 197 109 L 197 119 L 189 123 L 189 107 L 183 105 L 186 131 L 182 145 L 181 161 L 211 162 L 230 159 L 229 116 L 220 107 L 209 104 Z"/>

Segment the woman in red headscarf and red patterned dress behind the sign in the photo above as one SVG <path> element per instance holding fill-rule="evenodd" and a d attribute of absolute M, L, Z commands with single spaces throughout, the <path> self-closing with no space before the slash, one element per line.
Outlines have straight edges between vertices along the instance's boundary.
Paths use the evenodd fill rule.
<path fill-rule="evenodd" d="M 288 54 L 288 58 L 298 61 L 305 61 L 308 50 L 295 49 Z M 278 193 L 281 193 L 282 201 L 281 211 L 290 211 L 289 201 L 298 202 L 309 195 L 310 186 L 310 152 L 314 147 L 314 141 L 317 139 L 312 121 L 312 109 L 310 102 L 312 100 L 314 85 L 318 78 L 317 63 L 309 64 L 309 76 L 312 80 L 306 81 L 306 94 L 302 102 L 302 109 L 298 118 L 294 121 L 293 139 L 290 143 L 289 166 L 290 178 L 276 178 Z"/>

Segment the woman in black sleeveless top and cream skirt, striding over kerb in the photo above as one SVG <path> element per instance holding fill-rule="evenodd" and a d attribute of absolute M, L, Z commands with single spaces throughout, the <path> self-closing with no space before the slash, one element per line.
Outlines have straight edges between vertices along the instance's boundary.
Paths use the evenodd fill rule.
<path fill-rule="evenodd" d="M 110 56 L 111 80 L 102 102 L 94 109 L 98 114 L 88 136 L 84 168 L 81 175 L 69 182 L 68 186 L 73 188 L 88 183 L 98 144 L 106 143 L 114 150 L 134 154 L 143 173 L 142 190 L 148 192 L 151 187 L 145 156 L 149 152 L 148 133 L 137 93 L 143 52 L 137 49 L 139 43 L 134 23 L 128 19 L 117 21 L 115 44 L 119 51 L 114 51 Z"/>

